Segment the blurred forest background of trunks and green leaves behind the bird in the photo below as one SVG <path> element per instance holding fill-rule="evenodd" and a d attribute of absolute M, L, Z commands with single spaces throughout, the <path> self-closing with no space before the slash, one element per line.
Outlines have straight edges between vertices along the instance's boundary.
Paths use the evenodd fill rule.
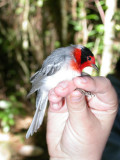
<path fill-rule="evenodd" d="M 35 95 L 26 95 L 29 78 L 55 48 L 87 46 L 97 74 L 106 76 L 114 73 L 119 42 L 120 0 L 0 0 L 0 160 L 49 159 L 46 118 L 25 139 L 35 111 Z"/>

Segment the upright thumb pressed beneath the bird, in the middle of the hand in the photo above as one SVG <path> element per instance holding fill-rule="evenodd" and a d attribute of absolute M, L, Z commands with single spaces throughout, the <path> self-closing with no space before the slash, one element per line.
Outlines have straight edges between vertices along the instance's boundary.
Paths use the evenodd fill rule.
<path fill-rule="evenodd" d="M 91 112 L 88 108 L 86 98 L 79 91 L 75 90 L 66 98 L 66 102 L 71 126 L 76 133 L 80 133 L 81 129 L 91 123 Z"/>

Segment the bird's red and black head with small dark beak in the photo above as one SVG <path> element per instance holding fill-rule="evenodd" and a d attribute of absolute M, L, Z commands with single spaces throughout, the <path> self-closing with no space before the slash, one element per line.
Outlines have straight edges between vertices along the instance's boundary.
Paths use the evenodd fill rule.
<path fill-rule="evenodd" d="M 95 57 L 93 53 L 86 47 L 77 45 L 74 47 L 74 57 L 79 67 L 80 71 L 85 67 L 93 67 L 94 69 L 98 70 L 98 67 L 95 65 Z"/>

